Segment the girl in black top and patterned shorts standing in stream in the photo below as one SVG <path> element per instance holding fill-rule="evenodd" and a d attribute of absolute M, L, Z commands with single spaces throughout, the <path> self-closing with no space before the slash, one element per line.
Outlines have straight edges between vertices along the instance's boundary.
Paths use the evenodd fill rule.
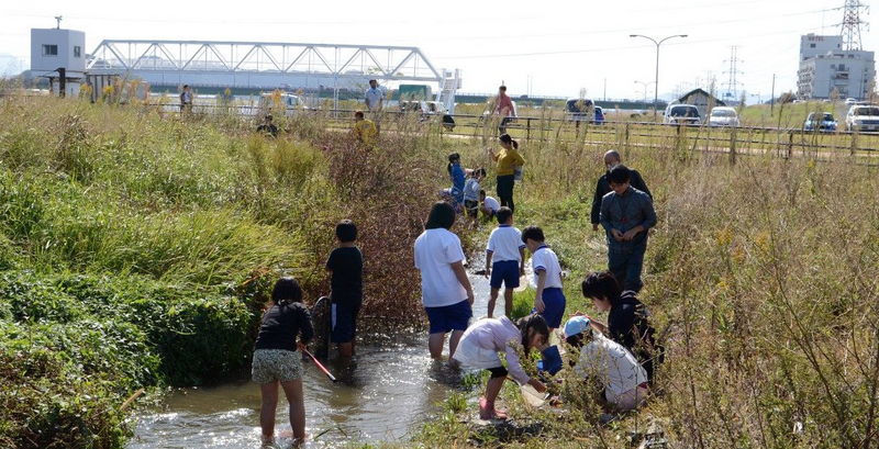
<path fill-rule="evenodd" d="M 305 403 L 302 395 L 302 356 L 299 350 L 314 336 L 314 328 L 309 310 L 302 305 L 302 289 L 296 279 L 285 277 L 275 282 L 271 302 L 271 307 L 263 315 L 263 324 L 254 344 L 251 370 L 263 396 L 259 409 L 263 444 L 275 442 L 278 383 L 290 404 L 293 438 L 301 442 L 305 440 Z"/>

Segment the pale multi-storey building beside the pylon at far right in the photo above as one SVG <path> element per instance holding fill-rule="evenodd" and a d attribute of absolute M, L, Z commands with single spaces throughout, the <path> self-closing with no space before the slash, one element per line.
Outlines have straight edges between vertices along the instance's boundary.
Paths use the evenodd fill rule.
<path fill-rule="evenodd" d="M 843 50 L 843 36 L 808 34 L 800 41 L 797 96 L 800 99 L 870 98 L 876 79 L 874 52 Z"/>

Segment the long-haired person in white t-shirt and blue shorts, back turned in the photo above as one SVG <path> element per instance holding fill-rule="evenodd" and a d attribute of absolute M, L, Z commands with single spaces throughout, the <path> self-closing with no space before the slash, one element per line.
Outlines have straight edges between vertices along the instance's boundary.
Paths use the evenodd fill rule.
<path fill-rule="evenodd" d="M 474 291 L 464 269 L 460 239 L 452 233 L 455 210 L 445 201 L 434 203 L 424 232 L 415 239 L 415 268 L 421 271 L 421 299 L 430 323 L 427 347 L 434 360 L 443 357 L 446 334 L 448 357 L 455 355 L 472 317 Z"/>

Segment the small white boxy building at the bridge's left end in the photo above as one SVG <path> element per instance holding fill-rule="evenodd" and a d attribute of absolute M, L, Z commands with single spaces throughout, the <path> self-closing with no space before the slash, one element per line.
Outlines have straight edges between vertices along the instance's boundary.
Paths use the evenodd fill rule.
<path fill-rule="evenodd" d="M 67 96 L 79 94 L 86 76 L 86 33 L 75 30 L 31 29 L 31 71 L 54 77 L 53 91 L 58 91 L 58 69 L 66 71 Z"/>

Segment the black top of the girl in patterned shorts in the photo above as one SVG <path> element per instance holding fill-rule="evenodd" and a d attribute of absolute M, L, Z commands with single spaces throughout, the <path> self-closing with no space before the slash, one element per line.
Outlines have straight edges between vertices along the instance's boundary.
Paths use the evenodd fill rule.
<path fill-rule="evenodd" d="M 281 303 L 272 305 L 263 315 L 263 325 L 256 336 L 254 349 L 296 350 L 296 337 L 302 334 L 302 343 L 311 341 L 314 328 L 311 326 L 311 314 L 302 303 Z"/>

